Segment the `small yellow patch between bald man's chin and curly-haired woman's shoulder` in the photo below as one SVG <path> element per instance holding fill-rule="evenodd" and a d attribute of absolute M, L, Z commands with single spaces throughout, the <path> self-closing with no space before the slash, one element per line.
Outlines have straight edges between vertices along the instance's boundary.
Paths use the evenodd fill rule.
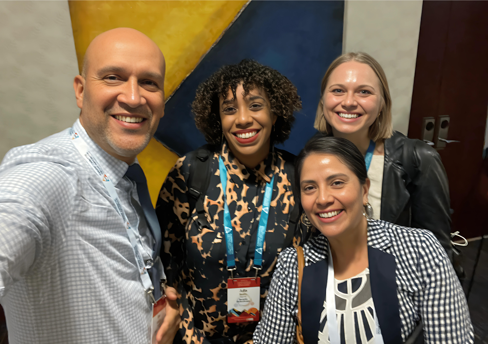
<path fill-rule="evenodd" d="M 149 145 L 137 156 L 137 159 L 146 175 L 151 201 L 156 206 L 156 200 L 164 179 L 178 160 L 178 155 L 169 151 L 155 139 L 151 139 Z"/>

